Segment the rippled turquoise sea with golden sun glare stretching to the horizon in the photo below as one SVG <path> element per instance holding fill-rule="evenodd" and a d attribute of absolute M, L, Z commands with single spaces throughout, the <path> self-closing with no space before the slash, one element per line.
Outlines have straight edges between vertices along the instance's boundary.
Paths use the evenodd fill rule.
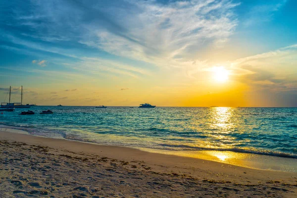
<path fill-rule="evenodd" d="M 39 114 L 51 109 L 53 114 Z M 219 150 L 297 158 L 297 108 L 34 106 L 0 114 L 32 135 L 164 150 Z"/>

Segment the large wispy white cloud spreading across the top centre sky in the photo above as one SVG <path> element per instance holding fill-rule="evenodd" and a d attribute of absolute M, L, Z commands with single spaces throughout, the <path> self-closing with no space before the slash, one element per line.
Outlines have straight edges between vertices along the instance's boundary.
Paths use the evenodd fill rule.
<path fill-rule="evenodd" d="M 128 28 L 127 32 L 118 34 L 89 27 L 95 35 L 92 40 L 83 37 L 80 42 L 115 55 L 160 65 L 162 59 L 193 55 L 196 49 L 207 45 L 221 46 L 238 24 L 233 12 L 238 4 L 229 0 L 168 4 L 130 2 L 137 6 L 138 12 L 126 13 L 125 19 L 120 19 Z"/>

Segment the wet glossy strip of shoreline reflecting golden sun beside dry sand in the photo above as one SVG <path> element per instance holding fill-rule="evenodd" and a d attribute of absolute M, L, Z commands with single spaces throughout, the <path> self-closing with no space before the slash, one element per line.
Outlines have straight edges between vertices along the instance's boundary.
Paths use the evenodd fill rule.
<path fill-rule="evenodd" d="M 99 144 L 93 142 L 84 142 L 80 140 L 71 140 L 65 138 L 53 138 L 46 136 L 38 136 L 30 134 L 27 131 L 15 126 L 0 125 L 0 132 L 7 131 L 12 133 L 27 134 L 35 137 L 43 137 L 56 140 L 66 140 L 78 143 L 99 145 L 99 146 L 111 146 L 119 148 L 133 148 L 151 153 L 169 154 L 182 157 L 190 157 L 196 159 L 210 160 L 215 162 L 220 162 L 229 165 L 236 165 L 246 168 L 259 169 L 259 170 L 274 170 L 282 172 L 297 172 L 297 159 L 285 156 L 274 156 L 258 153 L 249 152 L 236 152 L 227 150 L 167 150 L 167 149 L 157 149 L 157 148 L 146 148 L 146 147 L 133 147 L 133 146 L 121 146 L 121 145 L 108 145 Z"/>

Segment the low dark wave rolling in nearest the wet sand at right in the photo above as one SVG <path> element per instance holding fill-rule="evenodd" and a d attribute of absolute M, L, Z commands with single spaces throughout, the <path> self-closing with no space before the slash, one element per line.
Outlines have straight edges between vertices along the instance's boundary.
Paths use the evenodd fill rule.
<path fill-rule="evenodd" d="M 184 148 L 182 150 L 232 151 L 232 152 L 240 152 L 240 153 L 261 154 L 261 155 L 289 157 L 289 158 L 297 159 L 297 154 L 285 153 L 285 152 L 280 152 L 280 151 L 271 151 L 271 150 L 255 150 L 255 149 L 246 149 L 246 148 L 205 148 L 205 147 L 194 147 L 194 146 L 189 146 L 189 145 L 168 145 L 168 144 L 160 144 L 159 146 L 165 147 L 165 149 L 167 149 L 167 150 L 181 150 L 180 148 Z M 169 148 L 171 148 L 171 149 L 169 149 Z M 172 149 L 172 148 L 179 148 L 179 149 Z"/>

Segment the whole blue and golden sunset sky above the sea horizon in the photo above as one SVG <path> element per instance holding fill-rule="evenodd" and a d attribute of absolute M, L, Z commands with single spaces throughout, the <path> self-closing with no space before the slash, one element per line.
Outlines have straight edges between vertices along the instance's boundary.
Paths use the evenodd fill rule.
<path fill-rule="evenodd" d="M 0 1 L 0 101 L 297 106 L 296 0 Z"/>

